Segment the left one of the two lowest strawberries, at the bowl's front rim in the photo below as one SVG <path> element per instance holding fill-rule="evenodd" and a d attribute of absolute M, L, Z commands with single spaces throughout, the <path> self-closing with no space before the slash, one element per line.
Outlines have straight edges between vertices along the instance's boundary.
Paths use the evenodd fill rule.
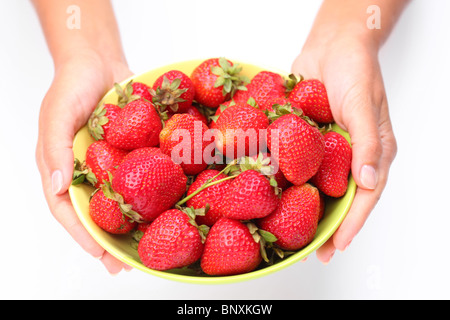
<path fill-rule="evenodd" d="M 196 262 L 203 248 L 202 237 L 191 218 L 172 209 L 150 224 L 139 241 L 138 254 L 147 268 L 164 271 Z"/>

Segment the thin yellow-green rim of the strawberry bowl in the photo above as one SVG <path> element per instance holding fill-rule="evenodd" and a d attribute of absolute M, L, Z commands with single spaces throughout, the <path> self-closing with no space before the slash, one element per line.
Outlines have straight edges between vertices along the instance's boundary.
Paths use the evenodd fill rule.
<path fill-rule="evenodd" d="M 166 66 L 161 66 L 159 68 L 154 68 L 151 70 L 147 70 L 145 72 L 142 72 L 140 74 L 135 74 L 123 81 L 121 81 L 119 84 L 121 86 L 126 85 L 126 83 L 128 83 L 130 80 L 133 80 L 135 78 L 138 78 L 144 74 L 147 74 L 149 72 L 155 72 L 159 69 L 167 69 L 167 68 L 171 68 L 172 66 L 179 66 L 181 64 L 193 64 L 193 63 L 198 63 L 200 61 L 203 61 L 202 59 L 195 59 L 195 60 L 187 60 L 187 61 L 179 61 L 176 63 L 172 63 Z M 286 76 L 286 72 L 282 72 L 279 70 L 276 70 L 275 68 L 267 68 L 264 66 L 257 66 L 251 63 L 247 63 L 247 62 L 243 62 L 240 60 L 232 60 L 234 63 L 239 63 L 242 66 L 245 65 L 250 65 L 250 66 L 254 66 L 257 67 L 258 69 L 266 69 L 266 70 L 270 70 L 273 72 L 278 72 L 283 76 Z M 107 93 L 105 93 L 105 95 L 102 97 L 102 99 L 100 100 L 99 104 L 102 103 L 105 98 L 114 90 L 114 88 L 111 88 Z M 339 128 L 337 126 L 337 124 L 333 124 L 333 130 L 341 130 L 343 131 L 341 128 Z M 83 128 L 81 128 L 77 134 L 75 135 L 75 139 L 73 141 L 73 146 L 76 145 L 77 140 L 79 139 L 80 135 L 82 134 L 82 131 L 86 130 L 86 126 L 84 126 Z M 345 132 L 345 131 L 343 131 Z M 349 142 L 350 143 L 350 142 Z M 273 274 L 276 273 L 278 271 L 280 271 L 281 269 L 284 269 L 288 266 L 291 266 L 293 264 L 295 264 L 298 261 L 303 260 L 304 258 L 306 258 L 307 256 L 309 256 L 311 253 L 313 253 L 314 251 L 316 251 L 318 248 L 320 248 L 328 239 L 330 239 L 330 237 L 336 232 L 336 230 L 338 229 L 338 227 L 342 224 L 343 220 L 345 219 L 345 217 L 347 216 L 348 211 L 350 210 L 350 207 L 353 203 L 354 200 L 354 196 L 356 194 L 356 183 L 353 179 L 352 174 L 349 174 L 349 180 L 348 180 L 348 187 L 347 187 L 347 192 L 346 193 L 350 193 L 349 195 L 346 195 L 348 197 L 348 200 L 345 203 L 345 207 L 342 210 L 342 213 L 339 215 L 339 218 L 335 220 L 335 222 L 333 223 L 333 225 L 331 227 L 329 227 L 327 229 L 327 231 L 323 234 L 321 234 L 320 238 L 317 239 L 316 237 L 313 239 L 313 241 L 308 244 L 307 246 L 305 246 L 303 249 L 300 249 L 298 252 L 296 252 L 295 254 L 286 257 L 282 260 L 277 261 L 275 264 L 264 267 L 264 268 L 260 268 L 260 269 L 256 269 L 254 271 L 248 272 L 248 273 L 243 273 L 243 274 L 236 274 L 236 275 L 228 275 L 228 276 L 208 276 L 208 275 L 201 275 L 201 276 L 194 276 L 194 275 L 185 275 L 185 274 L 178 274 L 176 273 L 176 271 L 172 272 L 171 270 L 167 270 L 167 271 L 158 271 L 158 270 L 153 270 L 150 268 L 145 267 L 143 264 L 141 263 L 137 263 L 134 259 L 129 258 L 129 257 L 124 257 L 121 253 L 120 250 L 118 250 L 118 248 L 112 246 L 110 243 L 108 243 L 108 241 L 106 241 L 103 237 L 101 237 L 99 234 L 97 234 L 97 232 L 95 232 L 95 230 L 93 230 L 93 228 L 91 228 L 91 223 L 87 220 L 90 219 L 89 215 L 86 215 L 83 212 L 83 209 L 80 207 L 80 204 L 78 203 L 78 201 L 76 200 L 76 192 L 79 186 L 73 186 L 71 185 L 69 187 L 69 196 L 72 202 L 72 205 L 74 207 L 74 210 L 78 216 L 78 218 L 80 219 L 82 225 L 87 229 L 88 233 L 94 238 L 94 240 L 100 245 L 102 246 L 105 251 L 107 251 L 108 253 L 110 253 L 112 256 L 114 256 L 116 259 L 122 261 L 123 263 L 126 263 L 127 265 L 138 269 L 140 271 L 143 271 L 145 273 L 163 278 L 163 279 L 167 279 L 167 280 L 172 280 L 172 281 L 177 281 L 177 282 L 184 282 L 184 283 L 191 283 L 191 284 L 225 284 L 225 283 L 235 283 L 235 282 L 242 282 L 242 281 L 248 281 L 248 280 L 252 280 L 252 279 L 256 279 L 256 278 L 260 278 L 263 277 L 265 275 L 269 275 L 269 274 Z M 176 269 L 179 270 L 179 269 Z"/>

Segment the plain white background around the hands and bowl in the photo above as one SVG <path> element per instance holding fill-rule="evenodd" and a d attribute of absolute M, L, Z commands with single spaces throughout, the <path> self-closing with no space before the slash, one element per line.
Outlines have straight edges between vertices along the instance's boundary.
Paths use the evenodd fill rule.
<path fill-rule="evenodd" d="M 320 1 L 114 5 L 136 73 L 213 56 L 289 71 Z M 348 250 L 327 266 L 311 255 L 264 278 L 202 286 L 138 270 L 111 276 L 54 220 L 34 158 L 53 64 L 30 3 L 2 1 L 0 298 L 450 298 L 449 14 L 449 1 L 413 1 L 380 54 L 399 152 L 383 197 Z"/>

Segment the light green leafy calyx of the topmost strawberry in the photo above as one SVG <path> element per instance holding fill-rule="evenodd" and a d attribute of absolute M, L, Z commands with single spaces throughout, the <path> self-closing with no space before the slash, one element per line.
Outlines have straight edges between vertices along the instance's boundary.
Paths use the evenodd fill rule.
<path fill-rule="evenodd" d="M 217 76 L 214 87 L 223 87 L 223 96 L 233 97 L 237 90 L 246 91 L 246 85 L 250 83 L 250 79 L 240 75 L 241 71 L 242 67 L 239 64 L 231 65 L 227 59 L 219 58 L 219 66 L 211 68 L 211 72 Z"/>

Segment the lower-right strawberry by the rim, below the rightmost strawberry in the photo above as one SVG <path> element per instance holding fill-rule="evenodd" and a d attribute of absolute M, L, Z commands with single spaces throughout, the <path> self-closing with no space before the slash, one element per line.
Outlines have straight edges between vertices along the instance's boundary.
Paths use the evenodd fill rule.
<path fill-rule="evenodd" d="M 281 195 L 277 209 L 258 220 L 258 227 L 272 233 L 283 250 L 298 250 L 309 244 L 319 221 L 320 196 L 310 184 L 292 186 Z"/>

